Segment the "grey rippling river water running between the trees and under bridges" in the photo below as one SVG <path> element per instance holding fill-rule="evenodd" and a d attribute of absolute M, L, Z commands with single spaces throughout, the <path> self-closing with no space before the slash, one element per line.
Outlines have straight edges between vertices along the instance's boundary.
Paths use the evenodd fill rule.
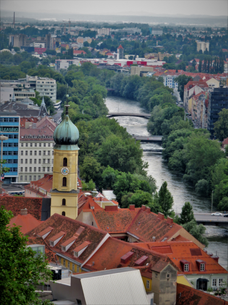
<path fill-rule="evenodd" d="M 148 112 L 133 100 L 119 97 L 107 97 L 106 106 L 110 112 Z M 121 116 L 116 118 L 119 124 L 127 129 L 129 134 L 138 136 L 149 136 L 146 129 L 147 119 L 133 116 Z M 174 210 L 180 212 L 184 202 L 189 201 L 194 212 L 210 212 L 211 201 L 196 194 L 194 188 L 182 179 L 182 174 L 172 172 L 168 169 L 167 163 L 162 159 L 162 147 L 157 143 L 142 143 L 143 160 L 148 162 L 147 174 L 156 179 L 158 189 L 163 181 L 167 181 L 168 189 L 174 199 Z M 209 240 L 208 252 L 214 255 L 217 251 L 219 264 L 227 268 L 227 238 L 226 228 L 207 226 L 206 236 Z"/>

